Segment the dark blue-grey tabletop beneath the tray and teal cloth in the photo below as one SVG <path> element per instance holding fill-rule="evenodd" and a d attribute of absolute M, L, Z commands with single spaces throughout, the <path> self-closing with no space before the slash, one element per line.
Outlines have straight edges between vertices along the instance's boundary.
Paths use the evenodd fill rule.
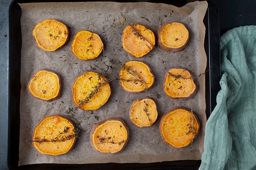
<path fill-rule="evenodd" d="M 219 3 L 221 35 L 235 27 L 256 24 L 256 0 L 217 1 Z M 8 35 L 9 6 L 11 2 L 12 0 L 0 0 L 0 170 L 8 169 Z"/>

